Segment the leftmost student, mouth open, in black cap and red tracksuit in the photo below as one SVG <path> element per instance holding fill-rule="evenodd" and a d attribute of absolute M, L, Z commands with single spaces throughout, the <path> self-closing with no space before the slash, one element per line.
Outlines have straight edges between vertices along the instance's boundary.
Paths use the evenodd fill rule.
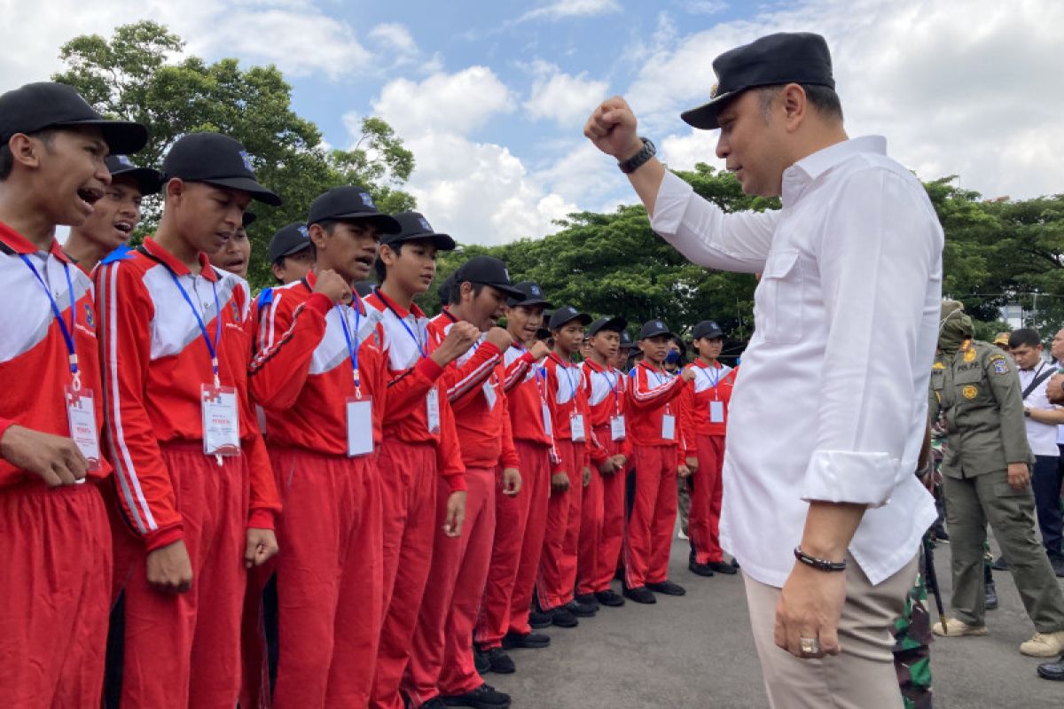
<path fill-rule="evenodd" d="M 112 583 L 100 489 L 112 469 L 99 437 L 99 314 L 54 232 L 92 218 L 109 151 L 146 140 L 143 125 L 104 121 L 68 86 L 0 96 L 3 707 L 100 704 Z"/>

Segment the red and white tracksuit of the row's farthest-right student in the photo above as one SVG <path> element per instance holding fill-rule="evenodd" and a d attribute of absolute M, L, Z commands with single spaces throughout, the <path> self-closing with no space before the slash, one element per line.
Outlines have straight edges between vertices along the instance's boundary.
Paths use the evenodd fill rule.
<path fill-rule="evenodd" d="M 698 458 L 698 470 L 688 478 L 691 513 L 687 536 L 697 563 L 722 561 L 720 548 L 720 473 L 725 462 L 725 434 L 728 428 L 728 404 L 731 402 L 737 369 L 701 359 L 692 368 L 696 376 L 681 396 L 680 428 L 684 434 L 685 456 Z"/>

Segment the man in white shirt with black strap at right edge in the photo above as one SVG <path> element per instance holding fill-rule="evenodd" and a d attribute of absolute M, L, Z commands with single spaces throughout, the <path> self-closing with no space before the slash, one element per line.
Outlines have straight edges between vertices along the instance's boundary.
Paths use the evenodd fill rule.
<path fill-rule="evenodd" d="M 1031 469 L 1031 487 L 1034 489 L 1042 543 L 1049 555 L 1053 573 L 1064 577 L 1060 449 L 1057 448 L 1058 426 L 1064 423 L 1064 408 L 1050 404 L 1046 396 L 1046 386 L 1057 368 L 1042 359 L 1042 340 L 1036 330 L 1023 327 L 1013 331 L 1009 335 L 1009 351 L 1019 367 L 1027 442 L 1035 459 Z"/>

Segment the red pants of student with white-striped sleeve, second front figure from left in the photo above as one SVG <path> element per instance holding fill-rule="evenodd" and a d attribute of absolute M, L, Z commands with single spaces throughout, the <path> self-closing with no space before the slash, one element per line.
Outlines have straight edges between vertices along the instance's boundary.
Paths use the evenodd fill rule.
<path fill-rule="evenodd" d="M 122 709 L 184 709 L 236 704 L 240 688 L 240 610 L 247 572 L 245 457 L 203 455 L 199 441 L 162 446 L 184 520 L 193 586 L 184 593 L 148 584 L 147 555 L 126 585 Z"/>

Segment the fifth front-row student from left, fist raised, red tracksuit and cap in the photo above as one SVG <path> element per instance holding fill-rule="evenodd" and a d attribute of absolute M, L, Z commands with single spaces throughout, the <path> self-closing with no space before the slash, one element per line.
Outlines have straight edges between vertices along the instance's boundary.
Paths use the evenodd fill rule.
<path fill-rule="evenodd" d="M 416 212 L 395 215 L 402 230 L 385 236 L 375 268 L 381 285 L 366 298 L 388 368 L 384 431 L 378 456 L 384 512 L 384 624 L 369 706 L 400 709 L 399 686 L 432 564 L 437 487 L 446 513 L 438 525 L 455 545 L 465 519 L 465 466 L 454 415 L 440 375 L 480 330 L 456 323 L 430 350 L 429 319 L 414 303 L 436 272 L 436 252 L 454 248 Z M 440 479 L 443 484 L 440 484 Z"/>

